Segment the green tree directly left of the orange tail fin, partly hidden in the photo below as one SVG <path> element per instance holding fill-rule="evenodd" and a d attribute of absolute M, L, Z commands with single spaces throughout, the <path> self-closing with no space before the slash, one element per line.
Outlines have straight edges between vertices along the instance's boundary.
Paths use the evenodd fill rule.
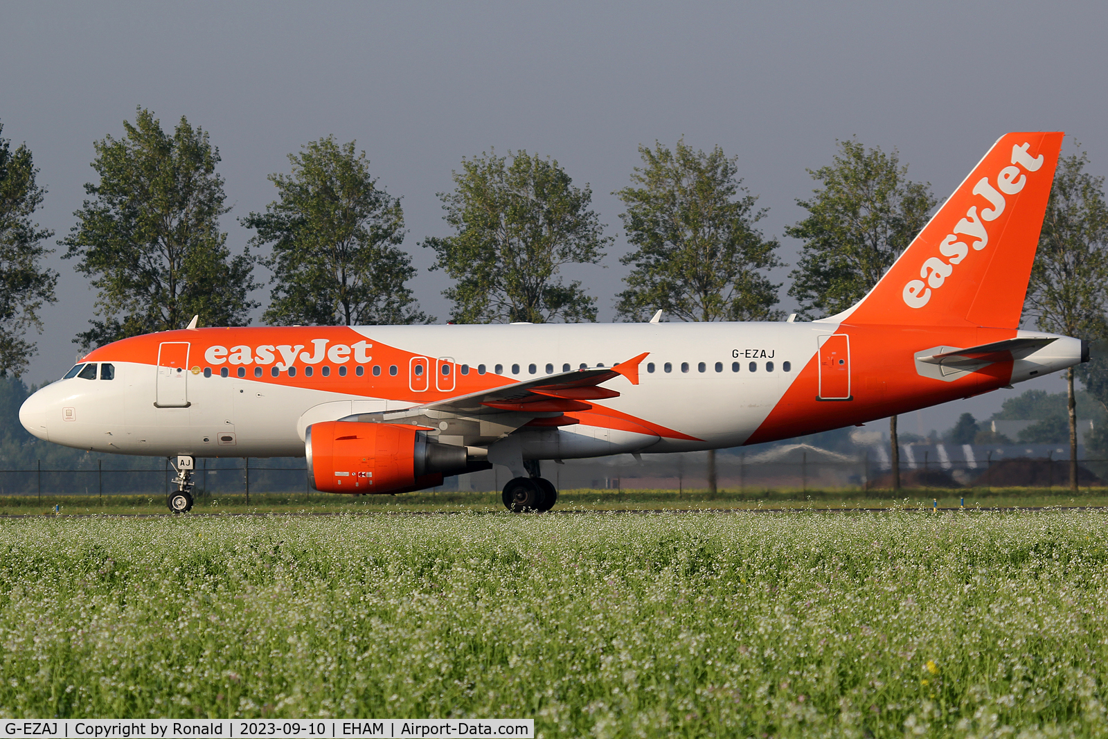
<path fill-rule="evenodd" d="M 937 201 L 930 183 L 907 178 L 894 148 L 841 141 L 833 164 L 809 170 L 822 186 L 797 201 L 808 217 L 786 228 L 803 242 L 789 295 L 804 318 L 837 314 L 861 300 L 907 248 Z M 889 420 L 893 487 L 900 487 L 896 417 Z"/>

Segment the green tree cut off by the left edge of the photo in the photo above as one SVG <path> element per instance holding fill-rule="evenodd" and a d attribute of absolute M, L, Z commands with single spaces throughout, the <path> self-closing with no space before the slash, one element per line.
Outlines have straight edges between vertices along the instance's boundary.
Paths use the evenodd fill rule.
<path fill-rule="evenodd" d="M 38 173 L 27 144 L 12 152 L 0 137 L 0 376 L 23 372 L 35 349 L 27 332 L 42 331 L 39 308 L 57 300 L 58 273 L 41 265 L 52 252 L 42 242 L 54 233 L 32 219 L 47 194 Z"/>

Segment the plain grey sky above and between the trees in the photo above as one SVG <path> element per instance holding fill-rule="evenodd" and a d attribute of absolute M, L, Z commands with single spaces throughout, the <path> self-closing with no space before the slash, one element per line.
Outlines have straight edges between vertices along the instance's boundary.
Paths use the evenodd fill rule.
<path fill-rule="evenodd" d="M 850 3 L 54 3 L 0 2 L 0 122 L 25 142 L 49 195 L 39 213 L 58 238 L 93 178 L 92 144 L 120 136 L 136 105 L 165 129 L 185 115 L 223 162 L 228 243 L 237 217 L 274 197 L 266 175 L 334 134 L 357 140 L 379 183 L 403 197 L 413 287 L 445 320 L 441 273 L 419 246 L 444 235 L 435 193 L 463 156 L 492 146 L 556 158 L 616 243 L 603 267 L 568 273 L 612 320 L 626 270 L 618 201 L 637 146 L 685 136 L 719 144 L 769 208 L 765 233 L 802 217 L 835 140 L 900 150 L 913 179 L 945 197 L 1003 133 L 1065 130 L 1108 167 L 1105 2 Z M 1070 143 L 1071 147 L 1071 143 Z M 794 261 L 798 245 L 782 238 Z M 59 301 L 27 380 L 72 363 L 93 294 L 53 255 Z M 782 306 L 790 308 L 788 268 Z M 268 290 L 256 296 L 266 302 Z M 902 429 L 978 418 L 1057 377 L 905 418 Z"/>

